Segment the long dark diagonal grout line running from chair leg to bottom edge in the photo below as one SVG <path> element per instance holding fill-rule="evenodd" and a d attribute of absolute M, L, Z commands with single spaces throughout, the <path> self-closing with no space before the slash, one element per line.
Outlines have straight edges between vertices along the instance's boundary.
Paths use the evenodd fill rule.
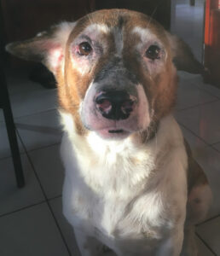
<path fill-rule="evenodd" d="M 18 136 L 20 137 L 20 134 L 18 134 Z M 52 209 L 52 207 L 51 207 L 50 204 L 49 204 L 49 199 L 48 199 L 48 197 L 47 197 L 47 195 L 46 195 L 46 193 L 45 193 L 45 191 L 44 191 L 44 189 L 43 189 L 42 183 L 40 182 L 40 178 L 38 177 L 38 173 L 37 173 L 37 171 L 35 170 L 35 167 L 34 167 L 34 165 L 33 165 L 33 163 L 32 163 L 32 159 L 31 159 L 29 153 L 26 151 L 25 144 L 23 143 L 21 137 L 20 137 L 20 141 L 21 141 L 23 147 L 25 148 L 25 153 L 26 153 L 27 159 L 29 160 L 30 165 L 32 166 L 32 170 L 33 170 L 33 172 L 34 172 L 34 174 L 35 174 L 35 177 L 36 177 L 37 180 L 38 180 L 39 186 L 40 186 L 40 188 L 42 189 L 43 196 L 44 196 L 44 198 L 45 198 L 45 202 L 46 202 L 47 206 L 49 207 L 49 211 L 50 211 L 52 217 L 54 218 L 55 225 L 56 225 L 57 229 L 58 229 L 59 232 L 60 232 L 61 239 L 62 239 L 62 241 L 64 242 L 64 244 L 65 244 L 65 246 L 66 246 L 66 248 L 67 248 L 67 253 L 69 254 L 69 256 L 72 256 L 72 253 L 70 252 L 70 249 L 69 249 L 69 247 L 68 247 L 68 245 L 67 245 L 67 241 L 65 240 L 65 237 L 63 236 L 63 233 L 62 233 L 62 231 L 61 231 L 61 227 L 60 227 L 60 225 L 58 224 L 57 219 L 55 218 L 55 213 L 53 212 L 53 209 Z"/>

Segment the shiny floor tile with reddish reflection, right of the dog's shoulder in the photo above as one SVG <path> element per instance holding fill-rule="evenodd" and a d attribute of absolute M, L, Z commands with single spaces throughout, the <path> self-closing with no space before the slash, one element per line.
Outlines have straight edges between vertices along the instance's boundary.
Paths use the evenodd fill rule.
<path fill-rule="evenodd" d="M 206 143 L 220 141 L 220 101 L 177 112 L 176 118 Z"/>

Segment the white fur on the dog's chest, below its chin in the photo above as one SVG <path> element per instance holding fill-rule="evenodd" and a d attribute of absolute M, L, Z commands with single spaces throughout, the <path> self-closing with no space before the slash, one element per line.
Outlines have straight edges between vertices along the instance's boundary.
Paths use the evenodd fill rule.
<path fill-rule="evenodd" d="M 78 137 L 61 114 L 67 134 L 64 213 L 73 226 L 109 243 L 117 237 L 160 239 L 185 218 L 185 154 L 176 121 L 166 117 L 147 144 L 105 142 L 95 133 Z M 111 245 L 109 244 L 111 247 Z"/>

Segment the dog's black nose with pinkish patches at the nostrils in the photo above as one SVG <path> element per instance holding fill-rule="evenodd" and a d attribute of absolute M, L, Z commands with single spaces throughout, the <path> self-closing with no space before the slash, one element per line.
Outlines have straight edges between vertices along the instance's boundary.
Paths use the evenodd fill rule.
<path fill-rule="evenodd" d="M 136 97 L 126 91 L 103 91 L 96 96 L 96 108 L 107 119 L 127 119 L 134 110 Z"/>

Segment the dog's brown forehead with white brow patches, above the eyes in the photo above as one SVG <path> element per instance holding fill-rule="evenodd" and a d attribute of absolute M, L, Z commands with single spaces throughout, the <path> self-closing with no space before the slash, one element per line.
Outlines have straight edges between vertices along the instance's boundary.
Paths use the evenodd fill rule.
<path fill-rule="evenodd" d="M 122 34 L 141 41 L 148 39 L 163 40 L 164 29 L 151 17 L 130 10 L 101 10 L 78 20 L 71 38 L 80 34 L 96 36 L 113 34 L 117 41 L 123 41 Z"/>

